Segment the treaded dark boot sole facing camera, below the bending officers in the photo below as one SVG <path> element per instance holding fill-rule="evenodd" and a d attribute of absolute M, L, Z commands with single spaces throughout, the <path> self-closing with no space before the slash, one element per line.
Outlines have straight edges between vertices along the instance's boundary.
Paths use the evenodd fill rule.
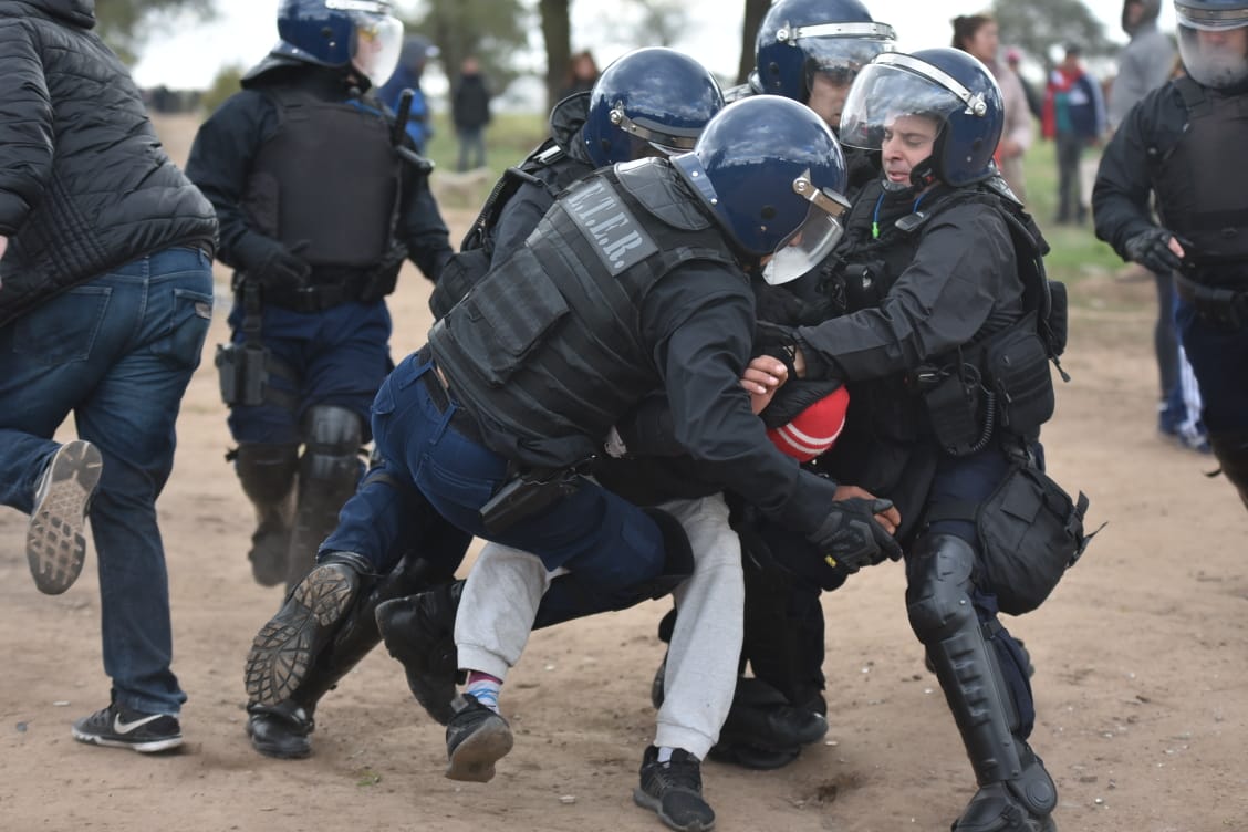
<path fill-rule="evenodd" d="M 347 564 L 322 564 L 308 573 L 251 642 L 243 671 L 248 701 L 272 706 L 288 700 L 358 591 L 359 573 Z"/>

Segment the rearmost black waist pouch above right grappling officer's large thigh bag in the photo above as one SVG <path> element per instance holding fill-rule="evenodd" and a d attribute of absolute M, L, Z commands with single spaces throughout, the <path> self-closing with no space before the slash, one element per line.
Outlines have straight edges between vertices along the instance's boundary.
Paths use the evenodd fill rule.
<path fill-rule="evenodd" d="M 1053 377 L 1048 349 L 1036 332 L 1035 313 L 985 344 L 983 373 L 1002 428 L 1026 437 L 1053 417 Z"/>

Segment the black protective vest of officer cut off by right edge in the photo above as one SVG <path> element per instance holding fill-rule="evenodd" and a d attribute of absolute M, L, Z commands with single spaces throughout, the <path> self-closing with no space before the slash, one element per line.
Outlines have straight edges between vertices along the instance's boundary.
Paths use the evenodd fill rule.
<path fill-rule="evenodd" d="M 1171 148 L 1151 152 L 1162 225 L 1191 241 L 1202 274 L 1218 282 L 1233 263 L 1243 277 L 1248 261 L 1248 95 L 1209 94 L 1191 79 L 1174 82 L 1187 107 L 1187 130 Z M 1153 150 L 1153 148 L 1151 148 Z"/>

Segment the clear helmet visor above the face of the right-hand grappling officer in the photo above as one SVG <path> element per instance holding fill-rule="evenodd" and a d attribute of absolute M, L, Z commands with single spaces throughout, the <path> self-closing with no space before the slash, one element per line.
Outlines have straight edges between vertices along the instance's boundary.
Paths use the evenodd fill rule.
<path fill-rule="evenodd" d="M 904 55 L 881 56 L 906 59 Z M 929 64 L 915 61 L 922 70 L 935 70 Z M 948 79 L 952 81 L 952 79 Z M 952 81 L 957 85 L 956 81 Z M 909 65 L 880 62 L 879 60 L 859 72 L 841 111 L 842 145 L 880 150 L 886 131 L 900 116 L 926 116 L 942 126 L 948 116 L 960 110 L 985 106 L 982 99 L 957 85 L 953 91 L 935 77 L 922 75 Z"/>

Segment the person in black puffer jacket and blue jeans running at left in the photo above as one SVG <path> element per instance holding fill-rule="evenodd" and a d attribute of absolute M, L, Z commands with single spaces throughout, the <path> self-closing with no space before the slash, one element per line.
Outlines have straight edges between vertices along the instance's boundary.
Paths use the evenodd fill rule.
<path fill-rule="evenodd" d="M 155 503 L 212 314 L 216 221 L 94 25 L 81 0 L 0 2 L 0 503 L 30 513 L 49 594 L 82 569 L 90 510 L 112 690 L 72 735 L 152 752 L 182 743 Z"/>

